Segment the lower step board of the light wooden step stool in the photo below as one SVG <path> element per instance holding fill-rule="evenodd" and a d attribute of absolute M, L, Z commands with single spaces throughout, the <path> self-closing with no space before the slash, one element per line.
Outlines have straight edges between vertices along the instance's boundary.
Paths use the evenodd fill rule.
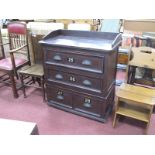
<path fill-rule="evenodd" d="M 133 108 L 119 107 L 116 111 L 117 114 L 141 120 L 144 122 L 149 122 L 149 113 L 134 110 Z"/>

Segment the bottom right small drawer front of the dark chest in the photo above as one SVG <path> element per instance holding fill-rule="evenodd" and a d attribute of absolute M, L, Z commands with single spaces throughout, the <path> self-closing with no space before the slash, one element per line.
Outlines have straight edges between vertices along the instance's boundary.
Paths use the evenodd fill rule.
<path fill-rule="evenodd" d="M 73 95 L 73 107 L 77 111 L 81 111 L 90 115 L 100 117 L 101 112 L 104 111 L 105 105 L 103 101 L 95 97 L 87 95 Z"/>

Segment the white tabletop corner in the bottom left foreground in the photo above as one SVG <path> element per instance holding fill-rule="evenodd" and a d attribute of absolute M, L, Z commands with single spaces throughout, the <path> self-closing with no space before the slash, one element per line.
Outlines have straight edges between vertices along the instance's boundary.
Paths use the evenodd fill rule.
<path fill-rule="evenodd" d="M 0 135 L 38 135 L 36 123 L 0 119 Z"/>

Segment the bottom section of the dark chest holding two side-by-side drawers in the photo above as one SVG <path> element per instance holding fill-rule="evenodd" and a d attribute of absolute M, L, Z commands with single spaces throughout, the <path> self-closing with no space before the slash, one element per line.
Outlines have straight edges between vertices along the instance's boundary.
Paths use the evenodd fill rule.
<path fill-rule="evenodd" d="M 101 122 L 105 122 L 114 98 L 114 89 L 105 98 L 100 98 L 69 90 L 54 83 L 47 84 L 46 92 L 49 105 Z"/>

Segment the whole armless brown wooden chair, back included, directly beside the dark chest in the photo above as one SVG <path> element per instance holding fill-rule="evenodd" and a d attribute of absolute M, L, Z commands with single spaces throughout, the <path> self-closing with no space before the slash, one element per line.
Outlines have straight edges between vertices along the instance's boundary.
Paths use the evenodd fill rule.
<path fill-rule="evenodd" d="M 19 76 L 22 84 L 22 90 L 24 97 L 26 97 L 25 87 L 33 86 L 42 89 L 43 101 L 45 101 L 45 87 L 44 87 L 44 71 L 42 65 L 43 53 L 38 44 L 38 41 L 42 39 L 42 35 L 31 35 L 31 41 L 34 53 L 34 64 L 19 71 Z M 29 77 L 29 78 L 28 78 Z M 37 86 L 35 83 L 38 83 Z"/>

